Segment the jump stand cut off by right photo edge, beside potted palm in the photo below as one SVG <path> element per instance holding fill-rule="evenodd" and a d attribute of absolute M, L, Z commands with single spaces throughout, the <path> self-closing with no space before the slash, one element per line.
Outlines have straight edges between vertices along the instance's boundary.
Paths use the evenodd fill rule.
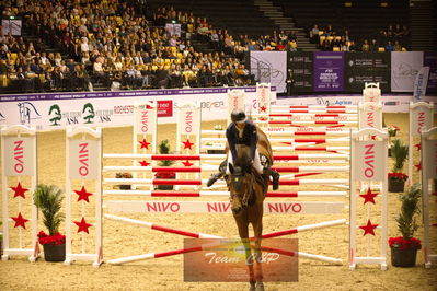
<path fill-rule="evenodd" d="M 425 268 L 430 268 L 437 263 L 437 254 L 432 254 L 432 242 L 436 242 L 430 228 L 437 226 L 437 221 L 430 221 L 429 203 L 436 205 L 437 197 L 437 127 L 422 131 L 422 161 L 427 161 L 422 168 L 422 216 L 424 222 L 424 260 Z M 434 191 L 430 190 L 434 182 Z M 430 195 L 432 194 L 432 195 Z M 433 197 L 434 196 L 434 197 Z M 436 209 L 436 207 L 434 207 Z M 434 233 L 434 240 L 430 238 Z M 436 244 L 434 244 L 436 247 Z M 435 249 L 435 248 L 434 248 Z"/>

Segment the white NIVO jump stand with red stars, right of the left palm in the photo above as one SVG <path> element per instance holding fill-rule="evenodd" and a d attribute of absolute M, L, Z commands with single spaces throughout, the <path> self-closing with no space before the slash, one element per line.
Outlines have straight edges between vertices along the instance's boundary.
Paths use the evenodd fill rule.
<path fill-rule="evenodd" d="M 102 130 L 89 127 L 67 128 L 66 132 L 66 265 L 74 260 L 92 261 L 94 267 L 102 264 Z M 87 189 L 94 182 L 94 191 Z M 73 188 L 74 187 L 74 188 Z M 79 195 L 76 202 L 71 196 Z M 93 198 L 94 216 L 87 217 L 87 206 Z M 81 218 L 73 221 L 72 207 L 80 207 Z M 88 207 L 90 208 L 90 207 Z M 92 221 L 94 220 L 94 221 Z M 93 222 L 93 223 L 90 223 Z M 78 226 L 80 240 L 72 240 L 71 226 Z M 89 228 L 94 231 L 94 253 L 87 253 L 85 241 Z M 78 244 L 81 242 L 81 245 Z M 74 243 L 74 245 L 73 245 Z M 73 248 L 74 247 L 74 248 Z M 80 253 L 74 253 L 81 248 Z"/>

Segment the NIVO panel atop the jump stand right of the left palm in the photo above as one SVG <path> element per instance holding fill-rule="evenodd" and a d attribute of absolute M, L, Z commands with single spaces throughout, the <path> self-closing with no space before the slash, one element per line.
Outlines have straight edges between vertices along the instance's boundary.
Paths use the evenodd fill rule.
<path fill-rule="evenodd" d="M 67 178 L 97 179 L 99 178 L 99 141 L 70 140 L 69 171 Z"/>

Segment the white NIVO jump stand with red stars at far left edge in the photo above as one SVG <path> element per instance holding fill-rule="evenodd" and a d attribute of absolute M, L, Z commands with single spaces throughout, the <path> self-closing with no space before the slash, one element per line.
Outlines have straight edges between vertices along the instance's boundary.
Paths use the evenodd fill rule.
<path fill-rule="evenodd" d="M 10 256 L 28 256 L 30 261 L 35 261 L 39 256 L 36 235 L 38 214 L 33 200 L 33 193 L 37 183 L 36 130 L 35 128 L 16 125 L 9 128 L 2 127 L 0 132 L 3 221 L 3 256 L 1 259 L 8 260 Z M 11 177 L 16 177 L 18 183 L 8 187 Z M 14 193 L 13 202 L 10 202 L 9 199 L 11 191 Z M 23 212 L 24 205 L 30 206 L 31 213 Z M 9 217 L 10 207 L 18 208 L 18 212 L 14 212 L 13 217 Z M 18 229 L 13 232 L 10 231 L 9 225 L 12 221 L 15 222 L 14 229 Z M 31 228 L 26 228 L 27 222 L 30 222 Z M 18 237 L 16 247 L 11 246 L 11 237 Z"/>

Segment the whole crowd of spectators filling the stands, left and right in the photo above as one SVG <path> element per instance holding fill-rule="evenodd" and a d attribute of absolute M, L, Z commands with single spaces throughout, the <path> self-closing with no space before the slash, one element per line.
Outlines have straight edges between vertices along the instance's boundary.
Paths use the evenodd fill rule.
<path fill-rule="evenodd" d="M 246 51 L 298 49 L 292 31 L 233 36 L 212 27 L 206 18 L 173 8 L 151 11 L 145 1 L 7 0 L 0 2 L 0 13 L 21 19 L 27 36 L 3 34 L 0 26 L 0 89 L 248 85 L 254 79 L 244 66 Z M 387 39 L 393 34 L 398 37 L 398 26 L 392 31 L 387 32 Z M 337 42 L 331 26 L 323 33 L 317 26 L 311 31 L 318 44 L 326 34 Z M 208 44 L 209 51 L 197 50 L 194 42 Z M 355 50 L 347 31 L 338 42 L 342 50 L 343 46 Z M 321 48 L 327 49 L 327 45 L 322 42 Z"/>

